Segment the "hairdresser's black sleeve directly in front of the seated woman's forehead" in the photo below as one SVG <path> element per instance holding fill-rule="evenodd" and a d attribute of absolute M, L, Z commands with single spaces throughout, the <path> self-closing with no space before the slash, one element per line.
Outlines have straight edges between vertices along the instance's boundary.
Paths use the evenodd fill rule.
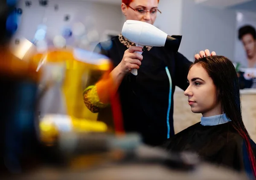
<path fill-rule="evenodd" d="M 189 61 L 185 56 L 179 52 L 175 55 L 175 82 L 176 86 L 180 87 L 183 90 L 186 90 L 188 87 L 187 75 L 189 73 L 189 67 L 192 62 Z"/>

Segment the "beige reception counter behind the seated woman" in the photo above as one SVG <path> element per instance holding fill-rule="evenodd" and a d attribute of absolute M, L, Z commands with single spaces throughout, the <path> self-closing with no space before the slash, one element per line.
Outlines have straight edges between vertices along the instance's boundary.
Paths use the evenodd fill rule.
<path fill-rule="evenodd" d="M 251 138 L 256 142 L 256 89 L 241 90 L 242 116 Z M 192 113 L 184 91 L 176 87 L 174 93 L 175 134 L 200 122 L 201 114 Z"/>

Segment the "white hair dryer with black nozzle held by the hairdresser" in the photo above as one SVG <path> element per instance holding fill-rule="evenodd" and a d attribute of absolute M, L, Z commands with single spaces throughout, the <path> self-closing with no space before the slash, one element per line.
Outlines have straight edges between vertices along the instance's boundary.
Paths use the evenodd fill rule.
<path fill-rule="evenodd" d="M 139 20 L 126 20 L 122 28 L 122 35 L 136 46 L 159 46 L 166 47 L 177 52 L 180 47 L 181 35 L 169 36 L 157 27 Z M 142 54 L 142 52 L 137 52 Z M 137 69 L 131 70 L 137 75 Z"/>

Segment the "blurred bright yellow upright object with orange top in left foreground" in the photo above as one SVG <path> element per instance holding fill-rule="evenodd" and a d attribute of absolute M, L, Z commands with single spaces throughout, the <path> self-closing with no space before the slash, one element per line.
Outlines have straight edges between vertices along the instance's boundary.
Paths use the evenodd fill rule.
<path fill-rule="evenodd" d="M 88 53 L 82 49 L 53 49 L 46 54 L 35 55 L 33 60 L 41 67 L 56 66 L 51 72 L 52 79 L 48 81 L 63 81 L 62 92 L 69 116 L 96 121 L 97 113 L 92 113 L 84 105 L 83 90 L 87 87 L 87 80 L 93 76 L 92 73 L 104 74 L 110 69 L 111 62 L 105 58 L 90 59 Z M 63 68 L 64 74 L 61 71 Z"/>

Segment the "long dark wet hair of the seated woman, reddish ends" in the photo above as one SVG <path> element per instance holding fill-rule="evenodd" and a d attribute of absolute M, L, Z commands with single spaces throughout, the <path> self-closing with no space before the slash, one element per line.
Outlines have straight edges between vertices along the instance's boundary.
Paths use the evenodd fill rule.
<path fill-rule="evenodd" d="M 222 112 L 231 119 L 231 124 L 246 143 L 251 168 L 256 177 L 256 160 L 250 145 L 250 135 L 246 130 L 241 113 L 239 81 L 233 63 L 224 56 L 208 56 L 195 60 L 212 78 L 217 90 L 217 98 L 221 102 Z M 191 67 L 192 67 L 191 66 Z"/>

